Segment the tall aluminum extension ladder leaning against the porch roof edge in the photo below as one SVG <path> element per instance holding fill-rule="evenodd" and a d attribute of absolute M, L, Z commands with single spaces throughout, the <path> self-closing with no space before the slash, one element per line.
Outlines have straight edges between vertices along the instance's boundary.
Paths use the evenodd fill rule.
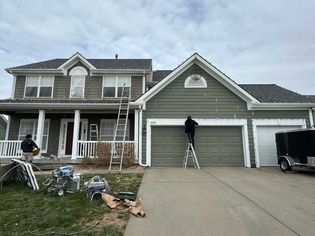
<path fill-rule="evenodd" d="M 129 114 L 129 103 L 130 103 L 130 94 L 131 94 L 131 84 L 130 87 L 125 87 L 125 83 L 123 84 L 123 91 L 121 94 L 119 111 L 118 111 L 118 118 L 117 118 L 117 125 L 116 125 L 116 132 L 114 135 L 114 142 L 112 146 L 112 156 L 111 162 L 109 164 L 108 173 L 111 171 L 120 173 L 121 167 L 123 164 L 123 154 L 125 148 L 125 138 L 126 138 L 126 130 L 128 124 L 128 114 Z M 120 134 L 123 132 L 123 142 L 117 142 L 116 138 L 121 137 Z M 120 160 L 119 160 L 120 159 Z M 119 170 L 112 170 L 112 164 L 119 164 Z"/>

